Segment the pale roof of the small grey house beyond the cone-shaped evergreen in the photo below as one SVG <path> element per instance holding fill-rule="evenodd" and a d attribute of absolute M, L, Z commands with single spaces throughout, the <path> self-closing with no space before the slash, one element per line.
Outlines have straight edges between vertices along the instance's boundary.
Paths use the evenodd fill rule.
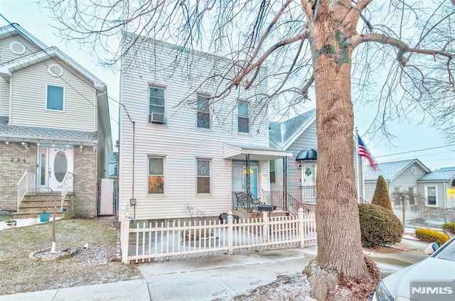
<path fill-rule="evenodd" d="M 378 163 L 376 166 L 376 170 L 373 168 L 365 168 L 363 170 L 363 179 L 365 181 L 375 181 L 378 180 L 378 177 L 382 175 L 384 180 L 390 182 L 395 179 L 395 177 L 399 176 L 403 173 L 407 168 L 409 168 L 412 164 L 417 163 L 417 165 L 422 168 L 426 173 L 429 173 L 430 170 L 422 164 L 418 159 L 410 159 L 410 160 L 401 160 L 401 161 L 394 161 L 394 162 L 384 162 Z"/>

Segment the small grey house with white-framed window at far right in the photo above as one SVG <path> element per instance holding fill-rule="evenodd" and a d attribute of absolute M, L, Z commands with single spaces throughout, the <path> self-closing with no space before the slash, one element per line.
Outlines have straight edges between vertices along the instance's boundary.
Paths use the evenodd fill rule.
<path fill-rule="evenodd" d="M 430 209 L 454 209 L 455 168 L 441 168 L 432 172 L 418 159 L 378 163 L 377 170 L 365 168 L 365 199 L 371 202 L 375 193 L 376 181 L 382 175 L 389 193 L 409 191 L 425 198 L 425 206 Z M 392 205 L 397 202 L 391 197 Z M 401 218 L 400 210 L 394 210 Z M 413 219 L 418 213 L 407 214 Z"/>

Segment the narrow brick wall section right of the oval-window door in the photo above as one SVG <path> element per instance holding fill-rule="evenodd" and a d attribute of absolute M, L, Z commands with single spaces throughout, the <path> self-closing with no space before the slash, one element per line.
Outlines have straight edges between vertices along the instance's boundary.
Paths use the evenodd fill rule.
<path fill-rule="evenodd" d="M 74 216 L 95 217 L 97 174 L 96 154 L 90 147 L 74 150 Z"/>

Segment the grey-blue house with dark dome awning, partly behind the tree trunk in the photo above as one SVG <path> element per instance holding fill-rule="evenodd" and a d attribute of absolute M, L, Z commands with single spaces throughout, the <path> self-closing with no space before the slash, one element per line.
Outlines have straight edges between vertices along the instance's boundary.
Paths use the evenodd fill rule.
<path fill-rule="evenodd" d="M 286 190 L 287 194 L 300 202 L 316 203 L 316 109 L 287 121 L 271 122 L 269 142 L 274 148 L 292 153 L 286 160 L 270 161 L 270 190 Z M 354 143 L 353 139 L 353 145 Z M 359 197 L 363 196 L 362 164 L 363 160 L 357 158 L 357 150 L 354 148 L 355 185 Z"/>

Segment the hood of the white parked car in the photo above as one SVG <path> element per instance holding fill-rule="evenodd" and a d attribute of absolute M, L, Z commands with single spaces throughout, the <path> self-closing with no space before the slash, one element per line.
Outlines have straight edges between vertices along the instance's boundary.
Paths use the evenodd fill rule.
<path fill-rule="evenodd" d="M 455 261 L 429 257 L 382 280 L 393 297 L 410 296 L 412 280 L 454 280 Z"/>

